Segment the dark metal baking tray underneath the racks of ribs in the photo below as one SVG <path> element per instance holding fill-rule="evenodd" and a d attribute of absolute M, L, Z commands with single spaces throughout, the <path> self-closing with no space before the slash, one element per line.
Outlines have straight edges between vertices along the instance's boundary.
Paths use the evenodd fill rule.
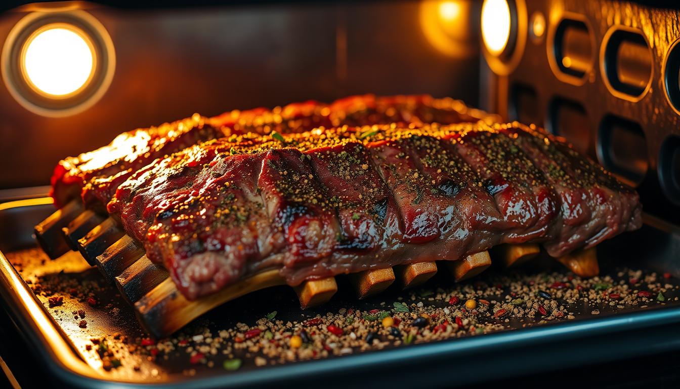
<path fill-rule="evenodd" d="M 55 386 L 119 388 L 146 384 L 169 388 L 236 388 L 304 382 L 307 386 L 346 387 L 350 375 L 352 382 L 363 385 L 452 386 L 680 349 L 677 331 L 680 302 L 673 298 L 679 295 L 676 288 L 668 292 L 664 305 L 617 313 L 603 307 L 600 315 L 592 315 L 590 307 L 575 313 L 574 320 L 526 328 L 526 323 L 511 321 L 506 329 L 490 334 L 371 349 L 348 356 L 267 367 L 256 367 L 246 358 L 238 371 L 225 371 L 188 366 L 185 354 L 183 358 L 171 356 L 168 360 L 140 358 L 137 370 L 127 367 L 105 371 L 101 360 L 86 350 L 91 337 L 112 339 L 115 332 L 143 337 L 144 333 L 116 288 L 105 286 L 98 271 L 89 268 L 79 254 L 74 252 L 50 261 L 35 249 L 33 225 L 52 211 L 49 198 L 0 203 L 0 294 L 12 320 L 53 375 Z M 615 266 L 624 264 L 671 273 L 676 284 L 680 277 L 679 253 L 680 231 L 651 217 L 645 217 L 641 230 L 598 247 L 604 273 L 615 272 Z M 17 268 L 29 280 L 35 275 L 63 272 L 65 277 L 97 281 L 103 285 L 99 298 L 107 303 L 107 309 L 88 311 L 88 328 L 78 328 L 71 313 L 77 309 L 78 302 L 65 302 L 63 309 L 47 309 L 45 299 L 34 294 Z M 448 281 L 441 277 L 432 282 Z M 236 322 L 252 325 L 274 309 L 279 312 L 277 318 L 305 320 L 318 313 L 337 312 L 341 307 L 367 310 L 382 301 L 418 294 L 417 290 L 392 289 L 375 298 L 358 301 L 343 292 L 345 289 L 341 285 L 339 295 L 328 305 L 311 311 L 301 311 L 296 306 L 296 297 L 290 288 L 263 290 L 228 302 L 190 324 L 185 332 L 190 334 L 204 327 L 216 331 Z M 112 308 L 118 309 L 114 316 L 110 314 Z M 187 375 L 187 369 L 194 372 Z"/>

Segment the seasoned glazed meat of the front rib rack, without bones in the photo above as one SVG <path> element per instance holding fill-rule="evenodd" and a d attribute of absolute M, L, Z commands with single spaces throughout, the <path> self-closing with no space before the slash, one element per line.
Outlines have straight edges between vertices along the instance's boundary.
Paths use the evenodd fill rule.
<path fill-rule="evenodd" d="M 641 225 L 634 190 L 517 123 L 234 135 L 139 170 L 108 209 L 190 299 L 269 268 L 296 285 L 500 243 L 559 256 Z"/>

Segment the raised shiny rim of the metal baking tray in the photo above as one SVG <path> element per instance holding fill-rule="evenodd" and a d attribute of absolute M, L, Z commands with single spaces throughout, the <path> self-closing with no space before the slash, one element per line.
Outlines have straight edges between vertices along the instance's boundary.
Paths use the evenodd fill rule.
<path fill-rule="evenodd" d="M 22 207 L 52 204 L 51 198 L 31 198 L 0 204 L 0 213 Z M 0 239 L 3 238 L 0 236 Z M 180 388 L 190 383 L 192 386 L 227 387 L 252 384 L 267 384 L 277 380 L 290 379 L 301 375 L 324 374 L 343 369 L 366 368 L 387 363 L 412 360 L 413 358 L 432 358 L 460 355 L 464 352 L 479 353 L 493 347 L 526 347 L 537 343 L 564 341 L 598 334 L 622 332 L 639 328 L 649 328 L 666 324 L 680 323 L 680 307 L 654 307 L 645 311 L 620 313 L 588 320 L 558 322 L 516 330 L 494 332 L 483 336 L 462 339 L 421 343 L 410 347 L 379 350 L 379 352 L 357 353 L 341 358 L 326 358 L 282 364 L 267 369 L 255 369 L 228 375 L 209 377 L 182 377 L 175 381 L 114 379 L 92 368 L 78 356 L 66 339 L 58 324 L 37 299 L 29 285 L 24 282 L 17 270 L 0 251 L 0 296 L 7 306 L 12 319 L 23 324 L 22 335 L 38 350 L 40 358 L 48 369 L 65 382 L 84 379 L 80 384 L 88 387 L 120 386 L 163 386 Z M 680 344 L 677 345 L 680 347 Z M 379 358 L 375 356 L 379 354 Z M 313 368 L 310 369 L 310 365 Z M 225 382 L 225 377 L 228 377 Z"/>

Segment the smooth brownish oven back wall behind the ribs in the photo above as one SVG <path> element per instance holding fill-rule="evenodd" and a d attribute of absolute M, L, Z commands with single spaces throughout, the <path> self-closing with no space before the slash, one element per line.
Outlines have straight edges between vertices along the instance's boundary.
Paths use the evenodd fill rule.
<path fill-rule="evenodd" d="M 464 50 L 430 43 L 424 3 L 118 10 L 86 5 L 112 37 L 116 71 L 94 106 L 34 114 L 0 87 L 0 189 L 47 185 L 59 159 L 122 131 L 226 110 L 356 93 L 451 95 L 477 105 L 479 5 L 462 5 Z M 430 4 L 431 5 L 431 4 Z M 432 7 L 430 7 L 432 8 Z M 0 15 L 0 42 L 29 12 Z"/>

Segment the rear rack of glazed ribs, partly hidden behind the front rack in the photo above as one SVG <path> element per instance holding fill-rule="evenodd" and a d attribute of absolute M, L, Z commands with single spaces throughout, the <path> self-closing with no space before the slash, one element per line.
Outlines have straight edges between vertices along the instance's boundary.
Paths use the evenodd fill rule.
<path fill-rule="evenodd" d="M 125 132 L 107 146 L 63 159 L 52 175 L 51 196 L 56 206 L 63 206 L 80 194 L 88 208 L 103 211 L 118 185 L 154 159 L 231 134 L 303 132 L 344 124 L 449 124 L 477 121 L 483 116 L 453 99 L 373 95 L 347 97 L 330 105 L 310 101 L 273 110 L 235 110 L 210 119 L 195 114 L 190 119 Z"/>

